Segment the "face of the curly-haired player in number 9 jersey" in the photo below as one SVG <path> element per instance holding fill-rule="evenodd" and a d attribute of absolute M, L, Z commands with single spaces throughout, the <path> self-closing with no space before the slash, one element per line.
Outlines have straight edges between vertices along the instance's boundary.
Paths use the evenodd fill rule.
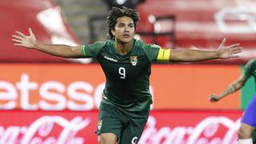
<path fill-rule="evenodd" d="M 111 30 L 115 39 L 121 42 L 131 42 L 134 38 L 134 21 L 130 17 L 119 17 L 116 20 L 114 30 Z"/>

